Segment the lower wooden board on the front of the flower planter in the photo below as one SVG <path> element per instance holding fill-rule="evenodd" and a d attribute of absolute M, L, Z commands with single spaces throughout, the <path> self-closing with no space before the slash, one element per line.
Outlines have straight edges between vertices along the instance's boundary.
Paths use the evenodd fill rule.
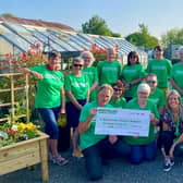
<path fill-rule="evenodd" d="M 15 159 L 1 162 L 0 175 L 36 164 L 38 162 L 40 162 L 40 156 L 38 151 L 23 155 Z"/>

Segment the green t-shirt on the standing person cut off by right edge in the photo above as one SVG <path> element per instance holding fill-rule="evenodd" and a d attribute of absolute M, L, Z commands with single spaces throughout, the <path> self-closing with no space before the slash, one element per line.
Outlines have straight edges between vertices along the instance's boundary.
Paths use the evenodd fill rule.
<path fill-rule="evenodd" d="M 170 78 L 173 78 L 174 83 L 183 89 L 183 64 L 176 63 L 172 66 Z M 183 95 L 181 94 L 183 97 Z"/>

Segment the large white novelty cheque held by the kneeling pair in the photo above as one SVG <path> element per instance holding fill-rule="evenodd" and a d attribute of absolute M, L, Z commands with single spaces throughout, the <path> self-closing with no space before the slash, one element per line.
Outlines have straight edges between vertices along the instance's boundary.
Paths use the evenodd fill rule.
<path fill-rule="evenodd" d="M 95 134 L 148 136 L 150 111 L 98 108 Z"/>

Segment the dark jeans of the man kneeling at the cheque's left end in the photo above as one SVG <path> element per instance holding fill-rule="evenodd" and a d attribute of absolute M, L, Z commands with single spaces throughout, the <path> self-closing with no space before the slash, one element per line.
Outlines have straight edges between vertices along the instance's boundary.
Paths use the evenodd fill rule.
<path fill-rule="evenodd" d="M 94 146 L 83 150 L 86 170 L 89 179 L 96 181 L 102 178 L 102 162 L 108 158 L 120 158 L 130 154 L 130 146 L 119 139 L 115 144 L 110 144 L 105 138 Z"/>

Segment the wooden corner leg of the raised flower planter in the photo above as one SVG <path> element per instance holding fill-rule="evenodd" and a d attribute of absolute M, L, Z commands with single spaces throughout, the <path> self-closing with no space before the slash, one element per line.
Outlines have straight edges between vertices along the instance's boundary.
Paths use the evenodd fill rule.
<path fill-rule="evenodd" d="M 47 142 L 41 139 L 39 142 L 40 145 L 40 161 L 41 161 L 41 178 L 44 182 L 49 180 L 48 175 L 48 150 L 47 150 Z"/>

